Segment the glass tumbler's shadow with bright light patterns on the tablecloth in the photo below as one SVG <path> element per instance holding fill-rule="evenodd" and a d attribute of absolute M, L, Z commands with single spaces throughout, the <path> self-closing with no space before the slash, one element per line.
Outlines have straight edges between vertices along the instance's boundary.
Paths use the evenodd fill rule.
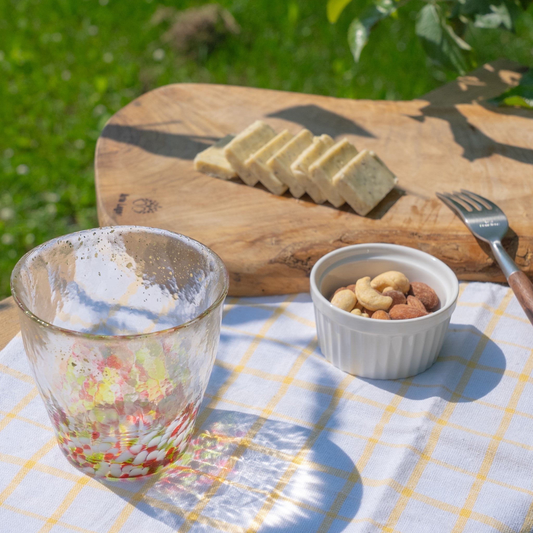
<path fill-rule="evenodd" d="M 352 488 L 346 480 L 359 476 L 332 441 L 305 450 L 311 433 L 289 422 L 213 409 L 182 459 L 158 478 L 100 482 L 126 501 L 133 498 L 139 511 L 173 530 L 193 524 L 222 531 L 257 529 L 256 519 L 261 531 L 272 533 L 304 533 L 320 525 L 329 530 L 333 522 L 335 531 L 342 531 L 362 496 L 360 482 Z M 246 436 L 250 440 L 243 440 Z M 302 463 L 293 461 L 296 454 Z M 134 495 L 144 483 L 149 488 L 139 502 Z"/>

